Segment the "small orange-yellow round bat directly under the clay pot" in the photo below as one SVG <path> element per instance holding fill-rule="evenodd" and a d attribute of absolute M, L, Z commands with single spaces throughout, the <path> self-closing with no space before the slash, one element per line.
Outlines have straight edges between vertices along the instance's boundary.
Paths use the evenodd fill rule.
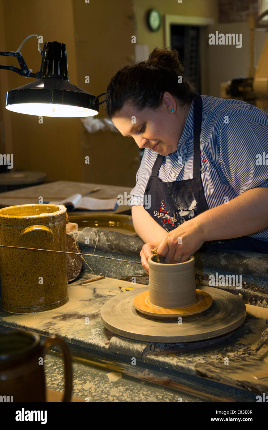
<path fill-rule="evenodd" d="M 151 304 L 149 290 L 137 295 L 133 300 L 134 306 L 143 315 L 156 319 L 177 319 L 177 321 L 179 316 L 185 318 L 204 312 L 209 309 L 212 303 L 211 295 L 198 289 L 196 289 L 196 301 L 189 306 L 180 308 L 169 309 Z"/>

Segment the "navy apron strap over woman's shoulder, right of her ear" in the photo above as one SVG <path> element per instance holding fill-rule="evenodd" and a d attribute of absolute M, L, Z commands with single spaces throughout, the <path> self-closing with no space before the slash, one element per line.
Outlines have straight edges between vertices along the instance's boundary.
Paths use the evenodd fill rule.
<path fill-rule="evenodd" d="M 200 134 L 202 125 L 202 97 L 194 93 L 194 174 L 193 178 L 201 178 L 200 175 Z"/>

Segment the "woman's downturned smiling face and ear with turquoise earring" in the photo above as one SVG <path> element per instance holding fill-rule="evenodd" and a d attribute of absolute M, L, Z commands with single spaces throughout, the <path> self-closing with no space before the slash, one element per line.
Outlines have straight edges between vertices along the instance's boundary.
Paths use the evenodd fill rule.
<path fill-rule="evenodd" d="M 112 121 L 123 136 L 133 137 L 139 148 L 168 155 L 178 150 L 190 107 L 191 103 L 180 105 L 165 92 L 157 109 L 146 108 L 138 112 L 130 103 L 125 103 Z"/>

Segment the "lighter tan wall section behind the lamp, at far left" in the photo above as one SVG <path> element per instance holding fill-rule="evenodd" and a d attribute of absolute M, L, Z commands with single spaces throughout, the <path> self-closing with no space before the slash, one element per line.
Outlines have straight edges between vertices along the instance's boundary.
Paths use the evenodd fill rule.
<path fill-rule="evenodd" d="M 4 46 L 1 50 L 15 51 L 29 34 L 43 36 L 43 41 L 66 43 L 69 80 L 76 83 L 74 21 L 71 0 L 46 0 L 45 3 L 25 0 L 1 0 L 3 8 Z M 41 47 L 43 47 L 41 45 Z M 37 49 L 37 38 L 27 40 L 21 49 L 28 68 L 40 70 L 41 55 Z M 1 57 L 1 59 L 4 57 Z M 9 65 L 18 62 L 7 58 Z M 17 64 L 15 64 L 15 62 Z M 12 71 L 0 71 L 1 100 L 9 89 L 30 83 L 34 78 L 24 78 Z M 2 80 L 3 77 L 3 80 Z M 38 117 L 14 112 L 5 112 L 6 151 L 13 147 L 14 167 L 19 170 L 37 170 L 47 173 L 48 180 L 82 180 L 81 145 L 78 136 L 79 119 L 49 118 L 38 123 Z M 8 123 L 12 126 L 9 134 Z M 11 146 L 12 144 L 12 146 Z"/>

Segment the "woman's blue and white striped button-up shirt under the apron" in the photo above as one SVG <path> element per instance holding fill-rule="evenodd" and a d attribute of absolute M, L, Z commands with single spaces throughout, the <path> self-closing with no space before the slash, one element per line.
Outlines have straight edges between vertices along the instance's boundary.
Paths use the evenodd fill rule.
<path fill-rule="evenodd" d="M 268 187 L 268 114 L 241 100 L 201 97 L 201 180 L 211 209 L 250 188 Z M 193 122 L 192 101 L 178 150 L 166 155 L 160 166 L 158 176 L 163 182 L 193 178 Z M 143 205 L 145 187 L 157 155 L 145 148 L 136 186 L 130 193 L 131 206 Z M 268 227 L 249 236 L 268 241 Z"/>

